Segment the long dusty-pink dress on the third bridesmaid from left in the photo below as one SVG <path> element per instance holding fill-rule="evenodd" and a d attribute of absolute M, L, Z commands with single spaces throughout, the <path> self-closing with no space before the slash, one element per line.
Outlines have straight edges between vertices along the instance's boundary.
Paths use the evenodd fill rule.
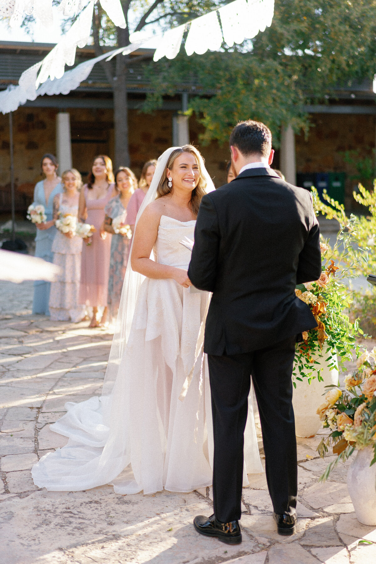
<path fill-rule="evenodd" d="M 110 184 L 103 198 L 89 200 L 89 188 L 87 184 L 83 187 L 87 209 L 86 223 L 96 228 L 96 232 L 91 236 L 91 245 L 82 245 L 79 303 L 86 306 L 107 306 L 112 235 L 106 233 L 107 237 L 103 240 L 100 228 L 104 222 L 104 208 L 111 199 L 113 188 L 114 184 Z"/>

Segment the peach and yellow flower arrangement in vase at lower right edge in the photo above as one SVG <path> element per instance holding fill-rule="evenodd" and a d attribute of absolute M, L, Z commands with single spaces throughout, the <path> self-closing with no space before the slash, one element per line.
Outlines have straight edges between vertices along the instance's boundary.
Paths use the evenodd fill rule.
<path fill-rule="evenodd" d="M 329 437 L 323 437 L 317 451 L 324 458 L 329 448 L 338 457 L 331 462 L 321 480 L 340 459 L 347 460 L 355 448 L 371 447 L 376 462 L 376 347 L 365 351 L 357 359 L 357 369 L 344 378 L 345 391 L 336 386 L 325 394 L 325 402 L 317 409 L 322 426 L 330 429 Z"/>

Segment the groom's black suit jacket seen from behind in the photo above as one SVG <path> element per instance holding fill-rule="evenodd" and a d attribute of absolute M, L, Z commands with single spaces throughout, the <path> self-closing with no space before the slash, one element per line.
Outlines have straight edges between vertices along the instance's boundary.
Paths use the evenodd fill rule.
<path fill-rule="evenodd" d="M 263 349 L 316 327 L 295 285 L 321 274 L 319 224 L 307 190 L 248 169 L 201 200 L 188 276 L 213 292 L 204 350 Z"/>

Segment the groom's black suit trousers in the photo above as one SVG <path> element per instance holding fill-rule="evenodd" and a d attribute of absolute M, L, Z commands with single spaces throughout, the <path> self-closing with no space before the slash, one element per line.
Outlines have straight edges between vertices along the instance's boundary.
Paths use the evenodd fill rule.
<path fill-rule="evenodd" d="M 214 430 L 214 514 L 222 523 L 241 518 L 250 375 L 259 408 L 273 509 L 276 513 L 294 513 L 298 493 L 291 382 L 294 356 L 295 337 L 244 354 L 207 356 Z"/>

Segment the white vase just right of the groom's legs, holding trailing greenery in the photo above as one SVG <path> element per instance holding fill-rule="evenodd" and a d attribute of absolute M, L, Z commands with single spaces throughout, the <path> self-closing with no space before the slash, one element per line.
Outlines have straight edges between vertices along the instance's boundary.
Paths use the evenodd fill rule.
<path fill-rule="evenodd" d="M 308 384 L 308 378 L 303 377 L 303 382 L 295 380 L 297 385 L 293 391 L 293 407 L 295 415 L 295 434 L 297 437 L 314 437 L 321 427 L 320 417 L 317 415 L 317 408 L 324 403 L 325 386 L 338 384 L 337 368 L 329 368 L 326 359 L 330 352 L 323 355 L 313 355 L 313 360 L 317 360 L 322 368 L 321 377 L 323 382 L 316 378 Z M 337 356 L 333 355 L 337 362 Z M 316 364 L 317 368 L 319 366 Z"/>

